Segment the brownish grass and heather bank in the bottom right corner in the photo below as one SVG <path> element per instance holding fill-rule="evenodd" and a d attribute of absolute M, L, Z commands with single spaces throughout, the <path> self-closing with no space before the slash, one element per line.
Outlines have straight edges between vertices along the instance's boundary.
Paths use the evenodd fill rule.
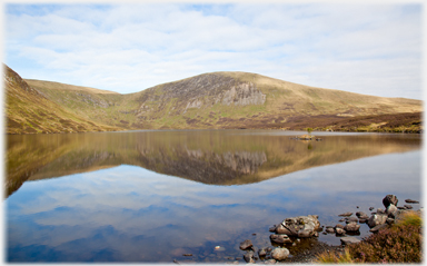
<path fill-rule="evenodd" d="M 421 226 L 420 215 L 408 211 L 395 225 L 346 247 L 344 254 L 320 254 L 318 263 L 421 263 Z"/>

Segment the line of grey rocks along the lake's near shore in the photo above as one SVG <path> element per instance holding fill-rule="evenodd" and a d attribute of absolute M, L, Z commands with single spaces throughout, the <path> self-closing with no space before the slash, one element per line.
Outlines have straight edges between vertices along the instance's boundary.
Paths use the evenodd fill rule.
<path fill-rule="evenodd" d="M 338 221 L 345 221 L 346 225 L 336 224 L 335 226 L 320 226 L 317 215 L 307 215 L 286 218 L 278 225 L 269 228 L 271 246 L 255 247 L 249 239 L 240 243 L 240 249 L 244 252 L 242 258 L 246 263 L 260 263 L 260 264 L 311 264 L 315 263 L 317 256 L 321 253 L 329 252 L 342 254 L 346 245 L 359 243 L 360 239 L 354 237 L 359 235 L 360 224 L 367 224 L 370 233 L 376 234 L 380 229 L 394 224 L 399 217 L 413 209 L 411 204 L 419 204 L 414 199 L 406 199 L 404 206 L 397 206 L 398 199 L 395 195 L 387 195 L 383 199 L 385 209 L 377 208 L 370 216 L 357 211 L 348 211 L 339 214 Z M 375 210 L 370 207 L 369 210 Z M 418 209 L 420 211 L 420 209 Z M 335 234 L 340 237 L 340 246 L 331 246 L 321 242 L 312 242 L 310 248 L 304 252 L 290 252 L 301 243 L 301 239 L 314 239 L 321 234 Z M 292 247 L 292 248 L 291 248 Z M 294 253 L 294 254 L 292 254 Z M 227 264 L 239 264 L 239 260 L 228 262 Z"/>

